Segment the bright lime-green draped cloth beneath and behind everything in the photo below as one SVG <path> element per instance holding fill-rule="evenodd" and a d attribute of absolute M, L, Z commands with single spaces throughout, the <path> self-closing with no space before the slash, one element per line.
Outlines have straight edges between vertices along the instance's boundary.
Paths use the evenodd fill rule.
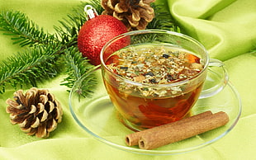
<path fill-rule="evenodd" d="M 256 1 L 255 0 L 157 0 L 178 21 L 183 33 L 201 41 L 211 58 L 225 62 L 230 82 L 239 91 L 243 111 L 239 123 L 224 138 L 191 153 L 147 156 L 111 148 L 93 139 L 75 123 L 69 111 L 68 92 L 59 86 L 64 75 L 40 84 L 57 96 L 64 117 L 49 139 L 23 134 L 11 125 L 6 113 L 7 98 L 15 92 L 7 88 L 0 95 L 0 159 L 256 159 Z M 79 0 L 0 0 L 0 10 L 25 12 L 45 30 L 72 12 Z M 0 31 L 0 60 L 21 50 Z M 1 68 L 0 68 L 1 69 Z"/>

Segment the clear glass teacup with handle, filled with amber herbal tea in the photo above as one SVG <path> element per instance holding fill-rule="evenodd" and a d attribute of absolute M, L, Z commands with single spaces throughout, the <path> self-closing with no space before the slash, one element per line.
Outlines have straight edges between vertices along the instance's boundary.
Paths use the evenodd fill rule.
<path fill-rule="evenodd" d="M 121 122 L 133 130 L 183 119 L 198 98 L 215 95 L 228 81 L 221 61 L 210 59 L 197 40 L 172 31 L 118 35 L 100 59 L 107 93 Z M 216 79 L 206 82 L 207 71 Z"/>

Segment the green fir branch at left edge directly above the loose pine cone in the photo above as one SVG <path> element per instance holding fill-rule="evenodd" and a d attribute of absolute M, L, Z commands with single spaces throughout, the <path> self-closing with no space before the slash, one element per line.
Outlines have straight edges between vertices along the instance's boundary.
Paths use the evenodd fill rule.
<path fill-rule="evenodd" d="M 25 52 L 17 53 L 2 60 L 0 63 L 0 93 L 5 92 L 5 87 L 11 85 L 17 88 L 19 85 L 31 84 L 37 86 L 37 82 L 54 78 L 60 73 L 58 59 L 60 47 L 41 45 L 27 49 Z"/>

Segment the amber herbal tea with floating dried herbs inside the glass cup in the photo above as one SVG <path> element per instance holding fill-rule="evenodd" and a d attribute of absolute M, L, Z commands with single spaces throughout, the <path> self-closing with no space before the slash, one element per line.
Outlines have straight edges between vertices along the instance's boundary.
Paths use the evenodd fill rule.
<path fill-rule="evenodd" d="M 103 76 L 107 92 L 134 129 L 182 119 L 197 101 L 205 80 L 184 81 L 201 72 L 201 59 L 168 45 L 130 46 L 116 51 L 106 64 L 118 75 Z M 178 85 L 171 85 L 174 82 Z"/>

